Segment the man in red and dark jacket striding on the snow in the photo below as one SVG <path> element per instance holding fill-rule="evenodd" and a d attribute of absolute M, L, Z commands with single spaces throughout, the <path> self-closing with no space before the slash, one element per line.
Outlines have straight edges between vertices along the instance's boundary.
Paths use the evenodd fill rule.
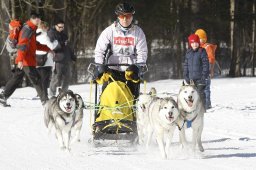
<path fill-rule="evenodd" d="M 41 51 L 50 50 L 47 46 L 36 42 L 35 32 L 39 23 L 40 16 L 36 13 L 31 13 L 30 19 L 24 24 L 19 33 L 14 74 L 7 82 L 4 91 L 0 94 L 0 102 L 3 106 L 7 106 L 6 100 L 22 82 L 24 74 L 27 75 L 35 87 L 42 104 L 44 105 L 48 100 L 42 88 L 40 75 L 36 70 L 36 49 Z"/>

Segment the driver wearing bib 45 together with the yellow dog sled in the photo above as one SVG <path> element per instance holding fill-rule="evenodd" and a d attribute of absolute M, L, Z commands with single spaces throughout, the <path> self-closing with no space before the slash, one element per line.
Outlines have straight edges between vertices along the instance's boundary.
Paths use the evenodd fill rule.
<path fill-rule="evenodd" d="M 94 140 L 137 137 L 136 99 L 139 96 L 142 68 L 147 60 L 145 34 L 133 22 L 134 7 L 119 3 L 117 20 L 99 36 L 95 48 L 93 76 L 103 84 L 99 101 L 95 93 Z"/>

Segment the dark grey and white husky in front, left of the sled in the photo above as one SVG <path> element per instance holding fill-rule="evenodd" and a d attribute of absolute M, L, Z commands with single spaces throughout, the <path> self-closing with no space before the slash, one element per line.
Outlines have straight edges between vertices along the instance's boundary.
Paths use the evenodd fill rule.
<path fill-rule="evenodd" d="M 56 137 L 62 150 L 70 150 L 71 128 L 74 125 L 77 100 L 71 91 L 59 90 L 57 97 L 52 97 L 45 104 L 44 122 L 51 130 L 56 130 Z"/>

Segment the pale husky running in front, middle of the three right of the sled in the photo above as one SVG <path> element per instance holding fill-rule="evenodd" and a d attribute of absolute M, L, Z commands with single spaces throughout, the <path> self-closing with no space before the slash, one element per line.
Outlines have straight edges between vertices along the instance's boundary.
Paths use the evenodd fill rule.
<path fill-rule="evenodd" d="M 177 121 L 179 121 L 177 103 L 171 97 L 155 98 L 148 107 L 148 116 L 150 128 L 148 129 L 147 147 L 154 133 L 161 156 L 166 159 L 169 155 L 174 130 L 178 126 Z M 164 140 L 165 136 L 166 141 Z"/>

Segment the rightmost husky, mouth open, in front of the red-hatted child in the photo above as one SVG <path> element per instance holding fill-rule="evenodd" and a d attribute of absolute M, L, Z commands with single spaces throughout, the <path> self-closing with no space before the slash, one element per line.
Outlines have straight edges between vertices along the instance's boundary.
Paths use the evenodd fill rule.
<path fill-rule="evenodd" d="M 203 152 L 201 136 L 204 126 L 205 108 L 194 82 L 190 82 L 190 84 L 183 82 L 178 94 L 178 107 L 183 121 L 183 128 L 180 131 L 180 141 L 183 147 L 187 145 L 184 123 L 190 121 L 193 130 L 192 149 L 195 151 L 198 144 L 199 150 Z"/>

